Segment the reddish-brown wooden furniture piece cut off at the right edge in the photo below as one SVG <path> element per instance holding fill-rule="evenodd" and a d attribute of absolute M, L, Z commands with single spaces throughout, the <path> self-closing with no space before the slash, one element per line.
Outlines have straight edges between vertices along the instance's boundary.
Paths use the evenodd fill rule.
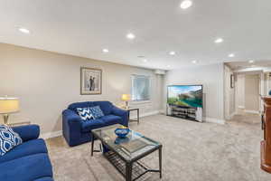
<path fill-rule="evenodd" d="M 261 168 L 271 174 L 271 96 L 262 97 L 265 110 L 262 115 L 264 140 L 261 141 Z"/>

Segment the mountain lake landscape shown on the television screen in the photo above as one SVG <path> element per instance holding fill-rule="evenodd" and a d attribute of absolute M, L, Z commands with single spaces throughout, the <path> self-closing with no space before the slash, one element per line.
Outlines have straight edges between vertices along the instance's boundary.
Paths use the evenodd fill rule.
<path fill-rule="evenodd" d="M 167 103 L 182 107 L 202 108 L 201 85 L 168 86 Z"/>

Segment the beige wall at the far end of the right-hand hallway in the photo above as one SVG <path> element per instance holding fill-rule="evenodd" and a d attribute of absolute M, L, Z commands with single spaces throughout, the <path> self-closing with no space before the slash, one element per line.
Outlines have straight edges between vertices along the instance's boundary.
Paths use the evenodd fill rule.
<path fill-rule="evenodd" d="M 259 110 L 259 75 L 245 75 L 245 109 Z"/>

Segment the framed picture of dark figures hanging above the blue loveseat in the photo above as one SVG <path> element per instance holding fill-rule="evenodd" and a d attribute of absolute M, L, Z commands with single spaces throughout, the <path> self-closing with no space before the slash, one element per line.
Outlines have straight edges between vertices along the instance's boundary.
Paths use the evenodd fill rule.
<path fill-rule="evenodd" d="M 80 94 L 81 95 L 91 95 L 91 94 L 101 94 L 102 92 L 102 70 L 81 67 L 80 70 Z"/>

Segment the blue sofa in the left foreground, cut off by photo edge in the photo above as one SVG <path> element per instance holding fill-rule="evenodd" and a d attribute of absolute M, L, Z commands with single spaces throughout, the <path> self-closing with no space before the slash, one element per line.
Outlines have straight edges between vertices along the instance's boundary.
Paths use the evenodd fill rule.
<path fill-rule="evenodd" d="M 23 144 L 0 157 L 2 181 L 53 181 L 51 161 L 38 125 L 14 127 Z"/>

